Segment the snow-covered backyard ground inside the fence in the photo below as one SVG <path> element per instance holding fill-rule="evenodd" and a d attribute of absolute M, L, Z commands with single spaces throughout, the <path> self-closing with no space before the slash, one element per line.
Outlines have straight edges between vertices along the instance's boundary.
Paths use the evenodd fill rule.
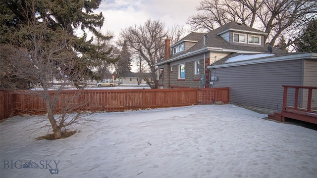
<path fill-rule="evenodd" d="M 38 117 L 0 123 L 1 178 L 317 175 L 317 131 L 230 104 L 98 113 L 99 123 L 59 140 L 35 140 L 47 134 L 33 133 Z"/>

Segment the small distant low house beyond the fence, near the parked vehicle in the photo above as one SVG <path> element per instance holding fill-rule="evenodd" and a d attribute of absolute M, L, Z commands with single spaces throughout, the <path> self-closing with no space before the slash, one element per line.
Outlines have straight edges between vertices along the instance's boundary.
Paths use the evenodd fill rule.
<path fill-rule="evenodd" d="M 121 75 L 121 84 L 146 84 L 146 80 L 153 81 L 151 73 L 127 72 Z"/>

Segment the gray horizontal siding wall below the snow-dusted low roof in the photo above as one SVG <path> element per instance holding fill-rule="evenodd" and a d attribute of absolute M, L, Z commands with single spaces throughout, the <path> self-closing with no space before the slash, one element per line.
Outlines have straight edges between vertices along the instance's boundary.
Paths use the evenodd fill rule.
<path fill-rule="evenodd" d="M 230 102 L 282 110 L 282 85 L 302 84 L 302 60 L 211 69 L 213 88 L 230 87 Z M 288 92 L 291 103 L 294 91 Z"/>

